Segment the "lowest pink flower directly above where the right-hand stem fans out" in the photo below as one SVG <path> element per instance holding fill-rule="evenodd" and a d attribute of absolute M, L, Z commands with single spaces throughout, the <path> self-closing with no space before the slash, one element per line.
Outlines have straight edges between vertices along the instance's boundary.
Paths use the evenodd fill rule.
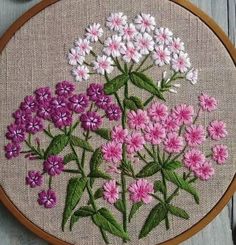
<path fill-rule="evenodd" d="M 164 150 L 168 153 L 179 153 L 183 149 L 183 137 L 177 133 L 167 134 L 164 141 Z"/>

